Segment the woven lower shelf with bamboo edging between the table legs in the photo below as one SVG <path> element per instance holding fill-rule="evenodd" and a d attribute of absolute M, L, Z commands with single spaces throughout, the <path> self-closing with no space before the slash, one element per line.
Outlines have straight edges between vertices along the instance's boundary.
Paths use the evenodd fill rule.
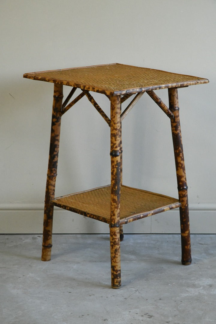
<path fill-rule="evenodd" d="M 55 198 L 54 206 L 101 222 L 110 219 L 110 185 Z M 181 203 L 168 196 L 121 185 L 120 225 L 178 208 Z"/>

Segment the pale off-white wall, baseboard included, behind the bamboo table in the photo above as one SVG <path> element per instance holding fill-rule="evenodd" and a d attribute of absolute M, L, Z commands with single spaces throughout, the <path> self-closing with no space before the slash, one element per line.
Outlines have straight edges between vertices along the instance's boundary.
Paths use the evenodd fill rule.
<path fill-rule="evenodd" d="M 215 14 L 215 0 L 1 1 L 1 233 L 42 231 L 53 84 L 23 73 L 115 62 L 210 80 L 178 93 L 191 232 L 216 233 Z M 167 90 L 157 93 L 167 104 Z M 169 119 L 147 95 L 123 121 L 123 141 L 124 184 L 177 197 Z M 109 128 L 83 98 L 62 118 L 56 196 L 109 182 Z M 63 210 L 54 217 L 57 233 L 108 231 Z M 179 233 L 178 211 L 125 232 Z"/>

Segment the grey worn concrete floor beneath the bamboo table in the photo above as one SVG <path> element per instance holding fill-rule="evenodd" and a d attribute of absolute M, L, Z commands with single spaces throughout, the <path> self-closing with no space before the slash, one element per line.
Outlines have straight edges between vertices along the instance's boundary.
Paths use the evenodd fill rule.
<path fill-rule="evenodd" d="M 1 324 L 216 323 L 216 235 L 191 235 L 192 264 L 180 263 L 180 235 L 125 235 L 122 287 L 110 288 L 108 235 L 0 236 Z"/>

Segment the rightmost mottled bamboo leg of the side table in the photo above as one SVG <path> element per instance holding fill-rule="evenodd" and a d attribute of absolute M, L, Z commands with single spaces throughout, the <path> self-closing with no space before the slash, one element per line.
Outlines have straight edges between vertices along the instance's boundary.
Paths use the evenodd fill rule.
<path fill-rule="evenodd" d="M 169 109 L 173 112 L 174 118 L 171 119 L 171 129 L 173 137 L 173 147 L 176 162 L 176 176 L 178 185 L 178 196 L 181 203 L 180 224 L 181 224 L 181 247 L 182 247 L 182 264 L 191 264 L 191 247 L 190 247 L 190 226 L 188 211 L 188 186 L 186 181 L 185 162 L 181 138 L 181 128 L 179 121 L 178 92 L 177 88 L 168 89 Z"/>

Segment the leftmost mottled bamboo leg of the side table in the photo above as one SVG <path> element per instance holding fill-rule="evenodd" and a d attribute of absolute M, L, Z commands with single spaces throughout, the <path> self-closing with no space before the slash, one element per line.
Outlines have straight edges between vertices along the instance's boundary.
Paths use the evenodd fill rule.
<path fill-rule="evenodd" d="M 52 106 L 52 123 L 50 137 L 50 153 L 47 171 L 47 184 L 44 203 L 44 220 L 43 220 L 43 243 L 42 243 L 42 261 L 51 260 L 52 247 L 52 219 L 53 205 L 51 199 L 55 195 L 55 181 L 57 176 L 57 164 L 59 154 L 59 138 L 61 127 L 60 111 L 62 108 L 63 85 L 54 84 L 53 106 Z"/>

